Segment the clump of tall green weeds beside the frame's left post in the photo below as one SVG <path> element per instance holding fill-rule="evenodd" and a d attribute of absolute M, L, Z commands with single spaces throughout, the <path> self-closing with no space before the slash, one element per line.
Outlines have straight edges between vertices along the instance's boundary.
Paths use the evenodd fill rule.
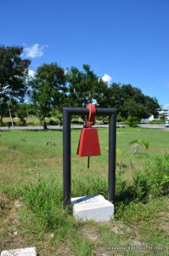
<path fill-rule="evenodd" d="M 44 230 L 55 230 L 69 222 L 68 213 L 62 209 L 62 189 L 60 181 L 39 177 L 37 183 L 25 184 L 22 199 L 27 202 Z"/>

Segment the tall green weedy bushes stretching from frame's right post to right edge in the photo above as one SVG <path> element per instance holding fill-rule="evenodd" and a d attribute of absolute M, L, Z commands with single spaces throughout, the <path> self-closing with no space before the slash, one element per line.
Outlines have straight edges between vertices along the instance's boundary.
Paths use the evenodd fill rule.
<path fill-rule="evenodd" d="M 135 172 L 132 178 L 132 183 L 127 183 L 116 177 L 116 199 L 118 203 L 122 201 L 123 206 L 166 195 L 169 192 L 169 154 L 155 158 L 154 166 Z"/>

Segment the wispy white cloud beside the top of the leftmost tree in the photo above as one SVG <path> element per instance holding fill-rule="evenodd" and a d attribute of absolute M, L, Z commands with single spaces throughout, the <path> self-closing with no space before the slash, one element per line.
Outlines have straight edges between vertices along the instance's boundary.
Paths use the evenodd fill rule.
<path fill-rule="evenodd" d="M 40 46 L 39 44 L 34 44 L 31 47 L 25 47 L 25 56 L 26 58 L 36 58 L 36 57 L 41 57 L 44 53 L 44 49 L 48 48 L 48 45 L 42 45 Z"/>

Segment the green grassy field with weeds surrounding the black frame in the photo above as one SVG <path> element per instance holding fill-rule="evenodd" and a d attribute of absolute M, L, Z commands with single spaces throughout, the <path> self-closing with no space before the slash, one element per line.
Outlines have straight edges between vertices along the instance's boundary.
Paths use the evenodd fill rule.
<path fill-rule="evenodd" d="M 107 196 L 108 129 L 98 131 L 101 156 L 91 158 L 89 170 L 87 158 L 76 155 L 80 130 L 71 131 L 72 196 Z M 94 223 L 78 222 L 63 210 L 62 131 L 0 132 L 1 250 L 35 246 L 44 256 L 168 255 L 168 137 L 167 131 L 117 129 L 116 214 L 110 222 Z M 133 139 L 149 143 L 148 157 L 142 145 L 129 147 Z"/>

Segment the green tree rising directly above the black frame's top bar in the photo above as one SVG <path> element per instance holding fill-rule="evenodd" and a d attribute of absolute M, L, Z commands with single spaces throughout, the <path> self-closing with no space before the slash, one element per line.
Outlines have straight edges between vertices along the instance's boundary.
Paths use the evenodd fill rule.
<path fill-rule="evenodd" d="M 83 65 L 83 71 L 76 67 L 67 69 L 66 79 L 69 83 L 68 102 L 70 107 L 86 107 L 94 100 L 99 107 L 104 107 L 107 84 L 100 79 L 89 65 Z"/>

